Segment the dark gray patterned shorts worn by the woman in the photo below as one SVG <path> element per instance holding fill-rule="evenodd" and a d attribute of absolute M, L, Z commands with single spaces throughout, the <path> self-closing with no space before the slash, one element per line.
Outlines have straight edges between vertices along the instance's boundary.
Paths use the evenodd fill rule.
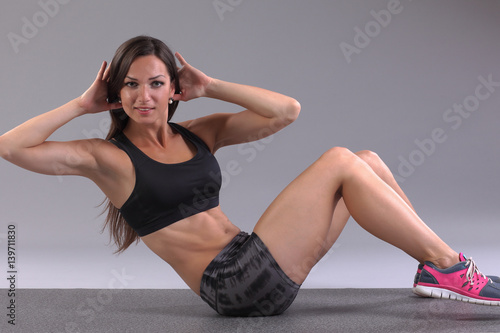
<path fill-rule="evenodd" d="M 299 288 L 259 236 L 241 232 L 208 265 L 200 295 L 224 316 L 273 316 L 288 309 Z"/>

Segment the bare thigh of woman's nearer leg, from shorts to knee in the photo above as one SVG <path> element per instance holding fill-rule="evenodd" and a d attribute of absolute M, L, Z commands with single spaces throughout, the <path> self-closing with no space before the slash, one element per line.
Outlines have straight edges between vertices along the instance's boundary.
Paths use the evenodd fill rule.
<path fill-rule="evenodd" d="M 271 203 L 254 232 L 296 283 L 301 284 L 325 253 L 345 170 L 362 162 L 333 148 L 293 180 Z"/>

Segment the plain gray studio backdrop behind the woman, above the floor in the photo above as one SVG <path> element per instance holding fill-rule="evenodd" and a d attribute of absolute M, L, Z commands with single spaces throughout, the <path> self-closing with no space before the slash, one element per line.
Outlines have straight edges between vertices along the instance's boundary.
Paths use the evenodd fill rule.
<path fill-rule="evenodd" d="M 240 228 L 250 231 L 282 188 L 326 149 L 370 149 L 431 228 L 484 272 L 500 274 L 500 87 L 473 105 L 480 77 L 500 82 L 499 1 L 401 0 L 384 26 L 371 11 L 394 1 L 54 3 L 1 5 L 0 132 L 79 96 L 122 42 L 150 34 L 208 75 L 276 90 L 302 105 L 285 131 L 217 153 L 223 170 L 230 161 L 239 166 L 221 205 Z M 357 32 L 365 29 L 369 40 Z M 24 43 L 14 46 L 14 34 Z M 357 53 L 346 57 L 341 45 L 356 42 Z M 446 118 L 464 102 L 474 111 Z M 174 121 L 238 110 L 196 100 L 182 103 Z M 84 116 L 51 139 L 103 137 L 107 125 L 105 113 Z M 434 131 L 441 134 L 432 147 Z M 416 140 L 427 143 L 424 151 Z M 408 169 L 403 160 L 415 166 Z M 0 177 L 0 267 L 6 267 L 7 226 L 14 223 L 18 287 L 185 288 L 142 244 L 113 255 L 107 233 L 99 233 L 103 216 L 96 206 L 103 195 L 90 181 L 38 175 L 3 160 Z M 304 287 L 410 287 L 415 269 L 413 259 L 352 222 Z"/>

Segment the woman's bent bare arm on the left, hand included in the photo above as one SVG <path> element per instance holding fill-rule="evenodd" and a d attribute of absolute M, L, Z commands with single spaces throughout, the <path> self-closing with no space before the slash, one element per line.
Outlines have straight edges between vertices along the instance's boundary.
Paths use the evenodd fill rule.
<path fill-rule="evenodd" d="M 82 96 L 0 136 L 0 155 L 22 168 L 49 175 L 86 175 L 96 168 L 95 148 L 102 140 L 46 140 L 76 117 L 121 107 L 119 103 L 106 101 L 109 75 L 106 65 L 103 62 L 94 83 Z"/>

